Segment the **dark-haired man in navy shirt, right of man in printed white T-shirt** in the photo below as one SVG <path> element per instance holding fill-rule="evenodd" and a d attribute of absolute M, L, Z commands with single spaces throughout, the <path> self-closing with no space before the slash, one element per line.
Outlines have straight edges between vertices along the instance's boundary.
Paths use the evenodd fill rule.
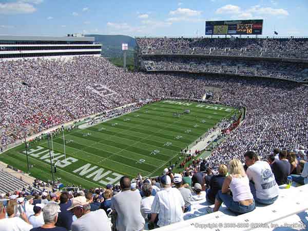
<path fill-rule="evenodd" d="M 278 185 L 286 184 L 287 176 L 290 175 L 291 164 L 286 159 L 286 156 L 287 152 L 285 150 L 280 151 L 279 160 L 275 160 L 272 164 L 272 170 Z"/>

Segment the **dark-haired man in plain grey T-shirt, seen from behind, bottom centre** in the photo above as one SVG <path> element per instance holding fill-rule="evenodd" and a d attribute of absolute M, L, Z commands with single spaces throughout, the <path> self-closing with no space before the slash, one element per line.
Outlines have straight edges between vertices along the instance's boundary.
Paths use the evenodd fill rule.
<path fill-rule="evenodd" d="M 118 214 L 116 227 L 119 231 L 142 230 L 144 218 L 141 215 L 141 196 L 130 190 L 129 177 L 120 179 L 121 192 L 111 200 L 111 208 Z"/>

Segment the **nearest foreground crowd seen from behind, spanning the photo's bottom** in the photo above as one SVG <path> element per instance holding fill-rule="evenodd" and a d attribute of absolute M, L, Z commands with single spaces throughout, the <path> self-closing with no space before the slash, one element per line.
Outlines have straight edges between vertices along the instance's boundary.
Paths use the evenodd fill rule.
<path fill-rule="evenodd" d="M 294 155 L 295 159 L 290 159 Z M 307 184 L 307 157 L 308 149 L 302 145 L 275 148 L 265 158 L 246 151 L 239 159 L 218 166 L 198 160 L 180 172 L 166 168 L 152 179 L 140 174 L 135 179 L 124 176 L 120 185 L 104 188 L 1 194 L 0 230 L 153 229 L 183 221 L 185 213 L 192 211 L 192 203 L 205 206 L 207 213 L 218 211 L 224 203 L 235 215 L 245 214 L 275 203 L 279 186 L 291 187 L 290 179 Z"/>

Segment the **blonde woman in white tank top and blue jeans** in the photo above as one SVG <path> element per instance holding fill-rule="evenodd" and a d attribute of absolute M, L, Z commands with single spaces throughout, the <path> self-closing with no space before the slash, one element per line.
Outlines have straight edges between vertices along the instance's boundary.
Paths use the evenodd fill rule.
<path fill-rule="evenodd" d="M 238 159 L 229 163 L 229 176 L 218 191 L 213 211 L 218 211 L 222 202 L 235 213 L 245 214 L 255 209 L 255 200 L 249 187 L 249 180 L 245 174 L 243 164 Z M 229 192 L 232 191 L 233 197 Z"/>

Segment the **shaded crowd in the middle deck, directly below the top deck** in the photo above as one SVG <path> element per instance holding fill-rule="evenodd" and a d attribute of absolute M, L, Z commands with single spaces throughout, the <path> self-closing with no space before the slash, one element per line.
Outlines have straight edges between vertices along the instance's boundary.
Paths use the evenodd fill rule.
<path fill-rule="evenodd" d="M 230 60 L 226 58 L 196 57 L 146 57 L 143 59 L 147 71 L 184 71 L 198 73 L 226 73 L 267 78 L 308 80 L 308 65 L 301 63 Z"/>

